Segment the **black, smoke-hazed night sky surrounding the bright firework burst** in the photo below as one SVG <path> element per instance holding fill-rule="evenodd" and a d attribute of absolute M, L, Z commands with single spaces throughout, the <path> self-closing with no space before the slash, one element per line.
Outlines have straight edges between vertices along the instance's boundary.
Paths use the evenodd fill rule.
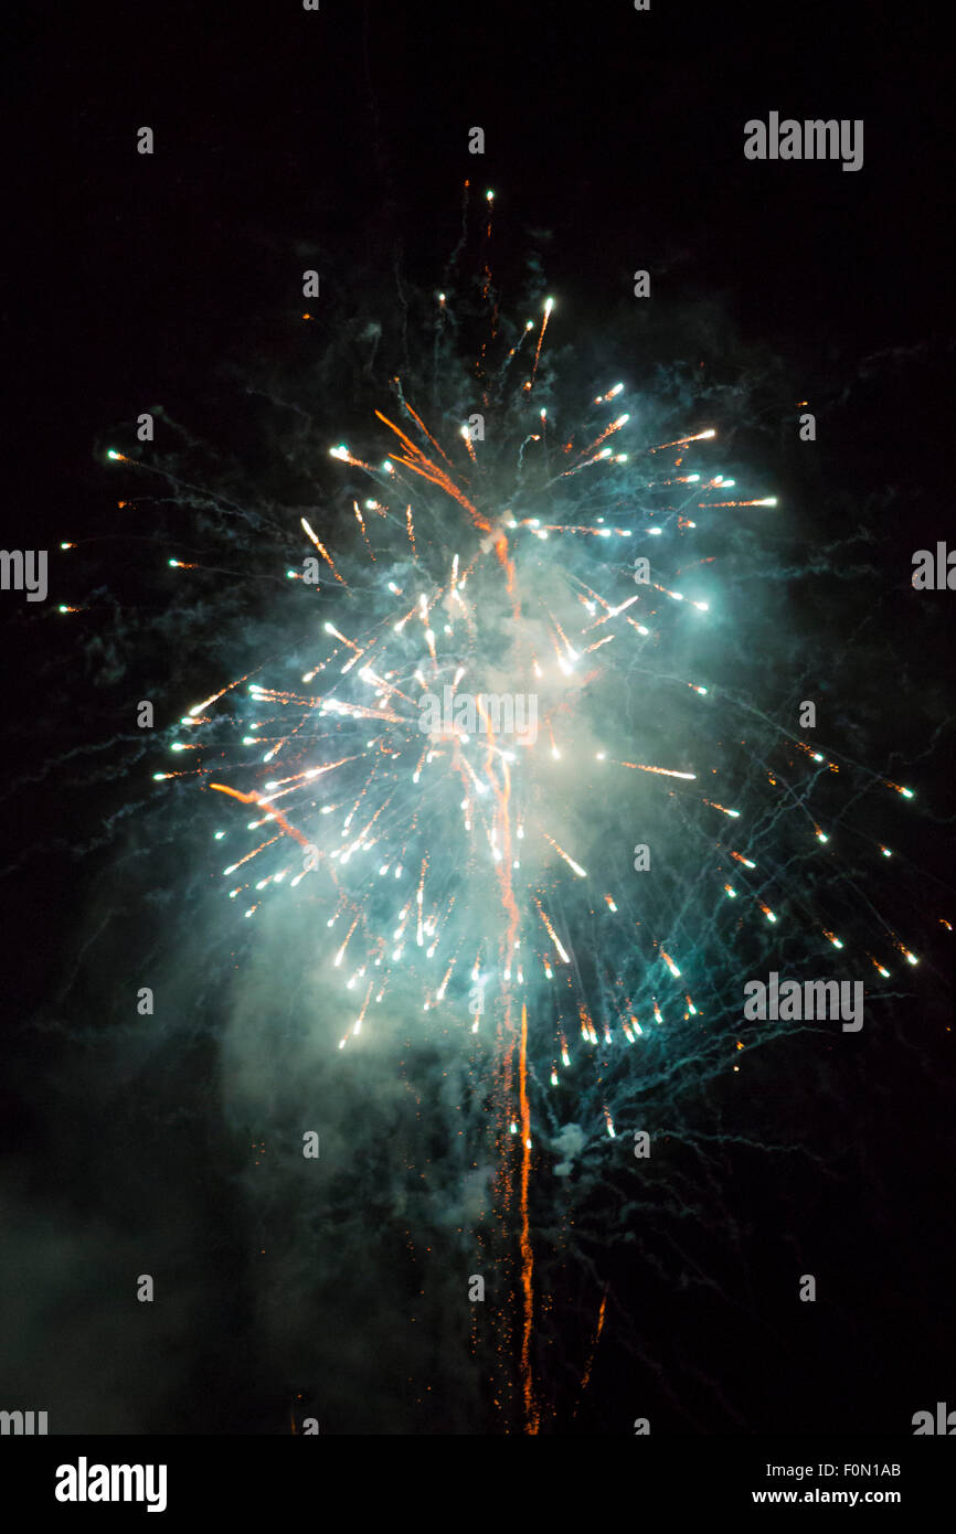
<path fill-rule="evenodd" d="M 282 891 L 242 922 L 212 834 L 244 810 L 201 775 L 153 782 L 180 765 L 187 707 L 267 657 L 276 686 L 315 661 L 315 603 L 285 578 L 312 552 L 299 517 L 358 558 L 351 497 L 367 494 L 328 446 L 393 449 L 373 411 L 396 419 L 396 371 L 430 420 L 465 419 L 488 262 L 502 333 L 555 299 L 542 399 L 557 431 L 623 379 L 654 426 L 717 425 L 707 463 L 778 497 L 675 557 L 678 574 L 710 560 L 712 638 L 674 624 L 654 675 L 625 664 L 582 726 L 588 744 L 608 730 L 638 750 L 646 729 L 672 767 L 720 764 L 786 919 L 780 937 L 733 936 L 697 808 L 661 811 L 669 873 L 641 894 L 631 847 L 654 841 L 641 815 L 663 801 L 575 769 L 563 830 L 641 927 L 625 951 L 557 902 L 582 985 L 597 994 L 605 959 L 649 962 L 649 928 L 664 946 L 677 933 L 706 1023 L 664 1025 L 646 1068 L 637 1048 L 608 1066 L 617 1161 L 597 1068 L 574 1065 L 549 1097 L 540 1043 L 534 1425 L 910 1434 L 915 1411 L 956 1404 L 956 598 L 911 586 L 913 552 L 953 537 L 951 80 L 935 20 L 856 0 L 285 0 L 23 8 L 14 31 L 3 546 L 51 552 L 46 601 L 0 594 L 0 1408 L 45 1408 L 51 1433 L 529 1431 L 517 1207 L 496 1209 L 493 1129 L 476 1150 L 502 1101 L 493 1035 L 479 1058 L 465 989 L 431 1023 L 396 985 L 339 1054 L 325 911 Z M 744 123 L 770 112 L 862 120 L 862 169 L 747 161 Z M 450 281 L 457 362 L 439 376 Z M 137 445 L 141 411 L 155 443 Z M 661 667 L 706 669 L 714 712 L 671 704 Z M 804 736 L 841 764 L 810 805 L 833 827 L 819 856 L 803 811 L 767 810 L 775 776 L 806 787 L 775 733 L 799 735 L 806 698 Z M 140 700 L 153 730 L 137 729 Z M 223 776 L 246 758 L 212 729 Z M 812 908 L 841 920 L 839 956 Z M 887 923 L 921 962 L 890 945 L 875 985 Z M 744 1035 L 743 980 L 772 968 L 864 979 L 864 1029 Z M 141 986 L 153 1016 L 137 1014 Z M 529 1009 L 543 1028 L 543 1003 Z M 628 1149 L 640 1126 L 648 1163 Z"/>

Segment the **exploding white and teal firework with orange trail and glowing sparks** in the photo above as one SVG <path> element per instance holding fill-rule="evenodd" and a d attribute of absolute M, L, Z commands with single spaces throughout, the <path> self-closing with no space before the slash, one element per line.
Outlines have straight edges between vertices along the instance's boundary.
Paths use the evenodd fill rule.
<path fill-rule="evenodd" d="M 450 282 L 362 440 L 325 443 L 338 489 L 295 517 L 149 463 L 233 549 L 236 522 L 252 546 L 267 528 L 256 558 L 290 614 L 270 598 L 269 653 L 210 680 L 155 778 L 216 801 L 236 923 L 308 913 L 338 1071 L 396 1026 L 466 1062 L 463 1164 L 493 1175 L 462 1290 L 486 1282 L 494 1342 L 474 1347 L 526 1431 L 557 1411 L 555 1273 L 577 1259 L 595 1281 L 568 1405 L 605 1324 L 595 1250 L 631 1207 L 625 1158 L 691 1083 L 740 1074 L 744 979 L 839 954 L 870 992 L 918 962 L 861 894 L 890 848 L 847 825 L 864 793 L 911 790 L 816 747 L 796 681 L 776 710 L 740 681 L 766 621 L 741 592 L 786 505 L 723 460 L 692 390 L 551 364 L 559 325 L 551 298 L 509 324 L 486 267 L 477 302 Z M 310 428 L 296 462 L 312 453 Z M 761 1020 L 760 1040 L 793 1026 Z M 597 1181 L 603 1229 L 580 1220 Z"/>

